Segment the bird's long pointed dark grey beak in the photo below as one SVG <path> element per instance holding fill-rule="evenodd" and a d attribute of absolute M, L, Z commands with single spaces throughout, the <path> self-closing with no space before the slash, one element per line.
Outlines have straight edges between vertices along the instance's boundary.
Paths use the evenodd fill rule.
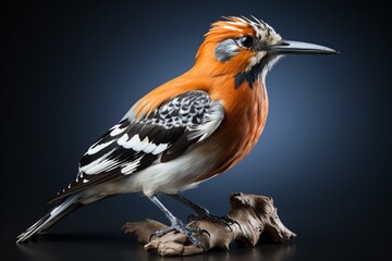
<path fill-rule="evenodd" d="M 281 40 L 278 45 L 270 46 L 269 50 L 279 54 L 301 53 L 301 54 L 336 54 L 339 51 L 329 47 L 314 45 L 303 41 Z"/>

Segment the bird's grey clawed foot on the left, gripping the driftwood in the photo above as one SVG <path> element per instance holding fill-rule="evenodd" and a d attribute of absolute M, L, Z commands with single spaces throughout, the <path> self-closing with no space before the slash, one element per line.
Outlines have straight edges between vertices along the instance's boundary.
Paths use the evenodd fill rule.
<path fill-rule="evenodd" d="M 203 233 L 207 233 L 209 235 L 209 233 L 207 231 L 201 229 L 201 228 L 196 227 L 196 226 L 184 225 L 184 223 L 182 223 L 182 221 L 179 220 L 179 219 L 175 219 L 174 221 L 172 221 L 172 224 L 171 224 L 170 227 L 168 227 L 166 229 L 162 229 L 162 231 L 157 231 L 151 236 L 162 237 L 162 236 L 164 236 L 166 234 L 168 234 L 169 232 L 172 232 L 172 231 L 176 231 L 176 232 L 180 232 L 180 233 L 184 234 L 193 245 L 198 246 L 198 247 L 203 248 L 206 251 L 206 248 L 194 236 L 194 234 L 201 235 Z"/>

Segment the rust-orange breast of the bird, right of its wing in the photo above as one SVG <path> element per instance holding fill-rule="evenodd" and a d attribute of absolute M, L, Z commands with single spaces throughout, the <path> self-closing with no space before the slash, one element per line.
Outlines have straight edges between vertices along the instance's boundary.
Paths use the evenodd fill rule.
<path fill-rule="evenodd" d="M 222 85 L 215 83 L 217 87 L 210 90 L 212 99 L 219 99 L 223 103 L 225 115 L 217 132 L 206 141 L 205 148 L 221 152 L 215 169 L 208 175 L 199 177 L 198 182 L 223 173 L 244 159 L 258 141 L 266 125 L 268 96 L 265 86 L 256 82 L 250 88 L 245 82 L 235 89 L 231 83 L 233 82 L 224 80 Z M 224 84 L 231 86 L 223 86 Z"/>

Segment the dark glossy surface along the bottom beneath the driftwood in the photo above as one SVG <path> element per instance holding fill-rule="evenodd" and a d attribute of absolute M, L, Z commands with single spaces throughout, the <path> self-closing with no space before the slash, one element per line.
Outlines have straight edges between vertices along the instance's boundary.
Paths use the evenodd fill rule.
<path fill-rule="evenodd" d="M 237 248 L 230 251 L 212 250 L 206 254 L 164 260 L 234 261 L 234 260 L 388 260 L 391 258 L 387 243 L 367 239 L 313 240 L 299 239 L 290 244 L 258 245 L 255 248 Z M 9 260 L 163 260 L 147 253 L 135 238 L 105 235 L 51 235 L 42 241 L 25 244 L 12 250 Z M 8 257 L 8 256 L 5 256 Z"/>

